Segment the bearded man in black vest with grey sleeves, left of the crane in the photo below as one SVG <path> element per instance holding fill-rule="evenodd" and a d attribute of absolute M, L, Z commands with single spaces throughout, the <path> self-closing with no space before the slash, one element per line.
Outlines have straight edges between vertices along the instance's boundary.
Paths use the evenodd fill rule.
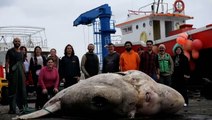
<path fill-rule="evenodd" d="M 99 73 L 99 58 L 93 52 L 94 44 L 88 45 L 88 52 L 82 56 L 81 69 L 85 78 L 97 75 Z"/>

